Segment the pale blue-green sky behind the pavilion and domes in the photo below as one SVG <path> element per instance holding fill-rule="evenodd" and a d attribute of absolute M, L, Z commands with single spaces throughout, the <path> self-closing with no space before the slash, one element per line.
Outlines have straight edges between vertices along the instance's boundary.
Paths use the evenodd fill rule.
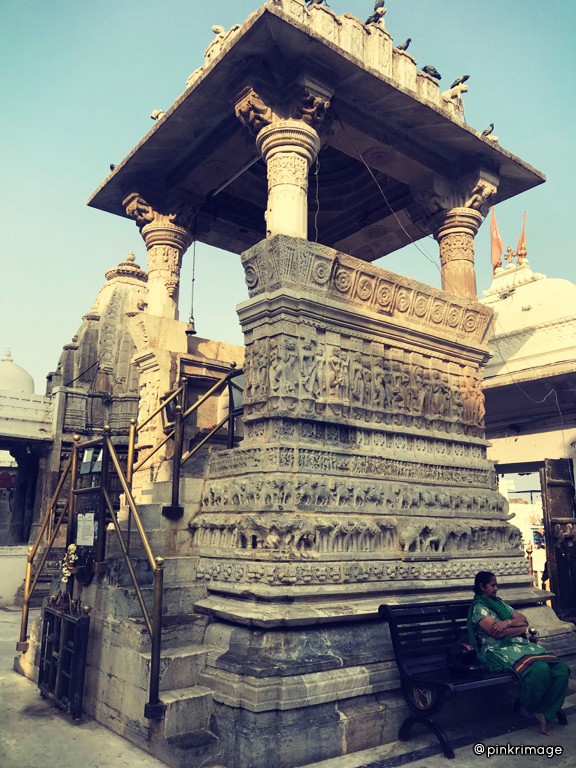
<path fill-rule="evenodd" d="M 330 0 L 365 19 L 372 0 Z M 241 23 L 258 0 L 0 0 L 0 354 L 43 394 L 104 282 L 146 250 L 134 222 L 86 205 L 202 64 L 213 24 Z M 575 0 L 388 0 L 395 44 L 412 38 L 418 66 L 449 87 L 470 74 L 466 120 L 490 122 L 500 145 L 547 182 L 496 207 L 515 248 L 527 211 L 535 271 L 576 282 L 574 258 Z M 431 238 L 376 263 L 440 287 Z M 424 252 L 422 252 L 424 251 Z M 192 250 L 184 256 L 180 319 L 190 313 Z M 478 292 L 490 286 L 489 225 L 476 238 Z M 201 243 L 194 319 L 200 336 L 242 343 L 236 305 L 248 297 L 240 258 Z"/>

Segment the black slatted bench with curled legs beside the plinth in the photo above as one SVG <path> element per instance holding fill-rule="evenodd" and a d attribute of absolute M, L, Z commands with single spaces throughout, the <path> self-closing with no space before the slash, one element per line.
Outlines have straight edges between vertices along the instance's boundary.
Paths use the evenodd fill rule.
<path fill-rule="evenodd" d="M 458 672 L 449 666 L 449 651 L 466 639 L 469 606 L 469 602 L 447 602 L 381 605 L 378 609 L 388 621 L 402 693 L 414 713 L 403 721 L 398 738 L 408 741 L 412 726 L 425 725 L 436 734 L 444 755 L 450 759 L 454 757 L 454 748 L 431 715 L 459 693 L 517 680 L 512 672 L 494 673 L 482 668 Z M 514 711 L 519 709 L 516 701 Z M 562 710 L 558 712 L 558 722 L 566 723 Z"/>

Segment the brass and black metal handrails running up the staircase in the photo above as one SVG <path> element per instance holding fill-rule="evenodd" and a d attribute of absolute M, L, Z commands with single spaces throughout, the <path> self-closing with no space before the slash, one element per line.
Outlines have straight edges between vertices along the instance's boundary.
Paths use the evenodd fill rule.
<path fill-rule="evenodd" d="M 34 589 L 40 578 L 42 569 L 48 558 L 50 550 L 54 546 L 56 537 L 60 531 L 60 527 L 64 520 L 64 516 L 67 514 L 67 529 L 66 529 L 66 546 L 68 547 L 72 543 L 74 535 L 74 492 L 76 489 L 76 476 L 78 473 L 78 455 L 79 452 L 86 448 L 93 448 L 96 446 L 102 447 L 102 469 L 100 475 L 100 498 L 101 503 L 98 511 L 98 532 L 95 541 L 95 559 L 92 564 L 92 570 L 95 573 L 101 573 L 105 570 L 105 557 L 106 557 L 106 526 L 107 519 L 106 513 L 109 515 L 114 530 L 118 536 L 118 542 L 122 555 L 124 557 L 126 567 L 132 579 L 136 597 L 140 605 L 142 616 L 146 629 L 150 635 L 151 640 L 151 661 L 150 661 L 150 680 L 149 680 L 149 700 L 144 708 L 144 716 L 151 720 L 162 719 L 165 711 L 165 705 L 159 698 L 160 687 L 160 654 L 162 645 L 162 599 L 163 599 L 163 582 L 164 582 L 164 559 L 162 557 L 155 557 L 148 536 L 140 519 L 138 508 L 134 497 L 132 495 L 132 481 L 134 473 L 142 469 L 142 467 L 154 456 L 157 451 L 165 445 L 168 440 L 174 440 L 174 452 L 173 452 L 173 472 L 172 472 L 172 493 L 171 493 L 171 505 L 170 507 L 164 507 L 162 513 L 167 517 L 180 517 L 183 514 L 182 507 L 179 506 L 179 485 L 180 485 L 180 469 L 202 446 L 219 430 L 224 424 L 228 423 L 228 447 L 233 447 L 234 444 L 234 424 L 236 417 L 241 413 L 241 408 L 234 408 L 234 393 L 236 389 L 242 392 L 242 387 L 239 386 L 234 379 L 243 373 L 242 369 L 236 370 L 233 368 L 224 378 L 220 379 L 213 387 L 211 387 L 202 397 L 200 397 L 189 408 L 185 408 L 185 395 L 186 395 L 186 379 L 183 379 L 180 386 L 172 392 L 156 410 L 151 413 L 141 424 L 137 424 L 135 419 L 130 422 L 130 431 L 128 437 L 128 452 L 127 452 L 127 468 L 126 472 L 123 471 L 120 459 L 116 452 L 116 448 L 112 443 L 110 437 L 111 429 L 109 426 L 104 427 L 104 434 L 100 437 L 93 438 L 91 440 L 80 443 L 80 438 L 75 435 L 72 446 L 72 453 L 67 460 L 64 469 L 62 470 L 58 485 L 54 494 L 50 500 L 48 509 L 42 519 L 38 535 L 32 547 L 28 551 L 28 560 L 26 563 L 26 576 L 24 580 L 24 599 L 22 604 L 22 621 L 20 626 L 20 640 L 16 644 L 16 649 L 25 653 L 29 648 L 28 642 L 28 618 L 30 600 L 34 593 Z M 223 390 L 228 387 L 229 391 L 229 410 L 228 415 L 223 418 L 218 424 L 214 425 L 209 432 L 191 449 L 183 452 L 184 444 L 184 422 L 185 420 L 198 408 L 205 403 L 212 395 L 215 395 L 219 390 Z M 168 429 L 166 437 L 138 464 L 134 465 L 134 457 L 136 454 L 136 440 L 138 433 L 162 412 L 166 413 L 169 406 L 177 401 L 174 408 L 174 427 Z M 128 521 L 126 529 L 126 541 L 123 535 L 123 531 L 120 527 L 116 511 L 114 509 L 113 500 L 110 496 L 109 490 L 109 464 L 112 463 L 113 469 L 120 481 L 122 491 L 125 495 L 126 504 L 128 506 Z M 60 514 L 56 519 L 56 508 L 60 499 L 62 489 L 66 479 L 70 476 L 70 488 L 68 497 L 63 505 Z M 96 488 L 94 490 L 97 490 Z M 153 607 L 152 617 L 148 612 L 148 608 L 144 601 L 142 590 L 138 584 L 136 578 L 136 572 L 130 556 L 130 534 L 131 524 L 134 519 L 136 529 L 140 536 L 144 551 L 146 553 L 146 559 L 154 576 L 153 587 Z M 38 553 L 38 549 L 42 543 L 42 540 L 47 539 L 47 546 L 40 558 L 40 563 L 33 574 L 34 560 Z M 73 582 L 68 581 L 67 590 L 71 593 L 73 590 Z"/>

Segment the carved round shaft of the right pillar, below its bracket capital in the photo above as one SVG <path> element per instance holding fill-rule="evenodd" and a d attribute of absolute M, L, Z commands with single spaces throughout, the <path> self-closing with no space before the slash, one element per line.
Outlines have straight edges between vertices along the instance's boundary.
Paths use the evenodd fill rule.
<path fill-rule="evenodd" d="M 482 224 L 482 214 L 473 208 L 452 208 L 441 218 L 434 237 L 440 245 L 442 288 L 476 301 L 474 237 Z"/>

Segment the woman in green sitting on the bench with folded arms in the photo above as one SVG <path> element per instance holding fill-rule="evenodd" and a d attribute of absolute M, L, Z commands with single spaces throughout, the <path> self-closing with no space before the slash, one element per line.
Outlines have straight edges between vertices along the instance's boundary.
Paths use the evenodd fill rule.
<path fill-rule="evenodd" d="M 474 579 L 474 602 L 468 611 L 468 634 L 479 661 L 493 672 L 512 671 L 519 677 L 518 698 L 533 714 L 540 731 L 564 703 L 570 670 L 541 645 L 526 638 L 528 619 L 496 596 L 496 576 L 480 571 Z"/>

